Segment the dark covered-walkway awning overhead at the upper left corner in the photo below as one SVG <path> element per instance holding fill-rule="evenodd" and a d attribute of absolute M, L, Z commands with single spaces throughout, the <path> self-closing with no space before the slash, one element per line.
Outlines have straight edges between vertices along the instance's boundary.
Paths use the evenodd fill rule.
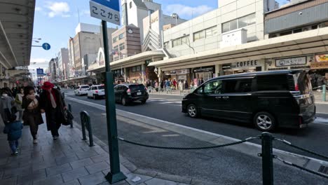
<path fill-rule="evenodd" d="M 35 0 L 0 1 L 0 62 L 7 69 L 28 66 Z"/>

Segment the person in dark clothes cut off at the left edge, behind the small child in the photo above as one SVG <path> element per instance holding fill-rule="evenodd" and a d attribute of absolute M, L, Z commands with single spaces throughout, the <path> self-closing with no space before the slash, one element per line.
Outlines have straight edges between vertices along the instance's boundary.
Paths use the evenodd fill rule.
<path fill-rule="evenodd" d="M 0 97 L 0 114 L 5 124 L 11 121 L 13 104 L 14 104 L 13 97 L 10 97 L 8 95 L 7 90 L 2 90 L 1 97 Z"/>

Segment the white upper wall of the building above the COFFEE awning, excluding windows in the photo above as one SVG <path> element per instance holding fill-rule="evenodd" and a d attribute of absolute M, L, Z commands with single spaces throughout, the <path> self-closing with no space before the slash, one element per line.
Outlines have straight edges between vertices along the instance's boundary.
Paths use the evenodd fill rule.
<path fill-rule="evenodd" d="M 182 37 L 184 34 L 189 35 L 190 46 L 196 50 L 196 53 L 219 48 L 222 40 L 222 23 L 252 13 L 256 14 L 256 24 L 243 27 L 247 30 L 247 41 L 264 39 L 264 1 L 266 0 L 219 0 L 219 8 L 216 10 L 164 31 L 164 42 L 169 42 L 169 53 L 175 57 L 193 53 L 187 44 L 172 48 L 172 39 Z M 217 26 L 217 36 L 193 41 L 193 33 L 214 26 Z"/>

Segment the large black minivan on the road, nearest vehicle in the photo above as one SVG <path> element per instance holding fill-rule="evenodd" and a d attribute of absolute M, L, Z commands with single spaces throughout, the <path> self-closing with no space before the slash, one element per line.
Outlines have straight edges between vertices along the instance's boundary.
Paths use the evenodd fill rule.
<path fill-rule="evenodd" d="M 315 99 L 306 71 L 263 71 L 210 79 L 184 97 L 182 112 L 254 123 L 261 131 L 304 128 L 315 120 Z"/>

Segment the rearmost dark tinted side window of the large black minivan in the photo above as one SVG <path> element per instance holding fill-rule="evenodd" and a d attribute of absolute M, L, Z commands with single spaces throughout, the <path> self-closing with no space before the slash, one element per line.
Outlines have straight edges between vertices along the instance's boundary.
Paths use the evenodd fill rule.
<path fill-rule="evenodd" d="M 257 90 L 289 90 L 287 75 L 257 76 Z"/>

